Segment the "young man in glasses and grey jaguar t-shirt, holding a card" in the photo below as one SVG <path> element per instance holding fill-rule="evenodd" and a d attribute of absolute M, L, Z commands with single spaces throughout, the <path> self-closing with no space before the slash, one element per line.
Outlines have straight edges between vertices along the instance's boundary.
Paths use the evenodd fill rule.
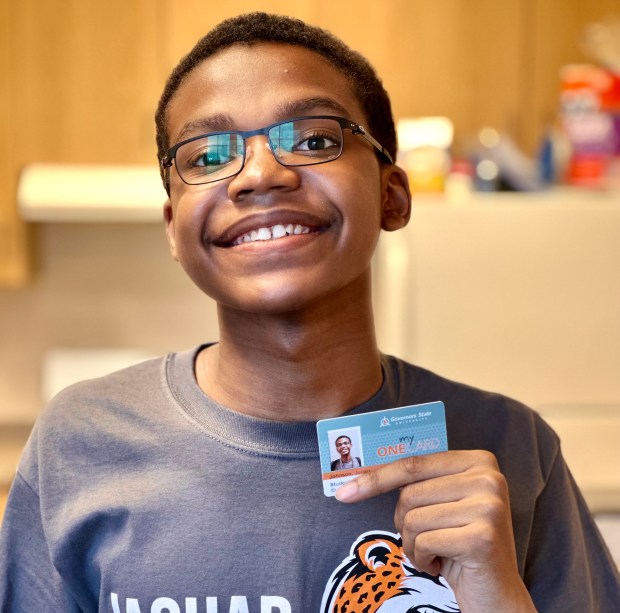
<path fill-rule="evenodd" d="M 370 261 L 410 194 L 368 63 L 241 16 L 175 69 L 157 128 L 170 249 L 220 341 L 51 403 L 6 512 L 2 611 L 613 610 L 549 428 L 377 348 Z M 316 420 L 436 400 L 450 451 L 323 495 Z"/>

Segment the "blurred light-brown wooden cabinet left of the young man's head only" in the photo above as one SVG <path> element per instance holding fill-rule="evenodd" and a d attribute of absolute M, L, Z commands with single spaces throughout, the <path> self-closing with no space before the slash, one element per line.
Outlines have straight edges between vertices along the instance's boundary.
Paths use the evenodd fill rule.
<path fill-rule="evenodd" d="M 0 0 L 0 285 L 31 276 L 16 209 L 33 162 L 155 162 L 159 2 Z"/>

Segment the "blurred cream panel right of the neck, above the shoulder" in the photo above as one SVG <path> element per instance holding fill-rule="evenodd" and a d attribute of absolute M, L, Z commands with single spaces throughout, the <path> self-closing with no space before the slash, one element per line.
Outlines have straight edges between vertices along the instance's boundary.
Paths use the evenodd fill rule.
<path fill-rule="evenodd" d="M 620 196 L 420 200 L 381 239 L 382 348 L 536 407 L 620 405 Z"/>

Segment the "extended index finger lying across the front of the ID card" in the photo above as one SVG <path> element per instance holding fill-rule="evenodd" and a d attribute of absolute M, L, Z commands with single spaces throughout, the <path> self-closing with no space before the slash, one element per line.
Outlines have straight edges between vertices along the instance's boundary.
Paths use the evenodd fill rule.
<path fill-rule="evenodd" d="M 444 451 L 424 456 L 409 456 L 360 475 L 336 491 L 341 502 L 358 502 L 411 483 L 465 472 L 473 466 L 497 469 L 493 454 L 486 451 Z"/>

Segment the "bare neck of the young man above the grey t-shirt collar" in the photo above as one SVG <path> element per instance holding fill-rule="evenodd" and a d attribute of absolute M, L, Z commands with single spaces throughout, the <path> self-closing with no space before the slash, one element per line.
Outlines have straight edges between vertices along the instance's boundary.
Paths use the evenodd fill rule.
<path fill-rule="evenodd" d="M 278 421 L 333 417 L 368 400 L 382 382 L 369 285 L 362 300 L 284 315 L 220 307 L 220 342 L 199 356 L 199 385 L 224 406 Z"/>

